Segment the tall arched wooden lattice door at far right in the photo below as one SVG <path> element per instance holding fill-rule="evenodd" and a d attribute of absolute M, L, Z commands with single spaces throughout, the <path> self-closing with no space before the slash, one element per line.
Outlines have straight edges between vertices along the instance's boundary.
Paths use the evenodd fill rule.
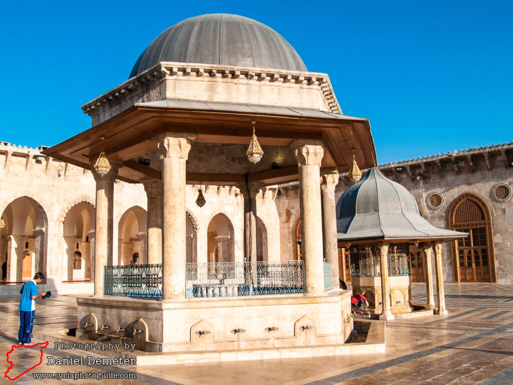
<path fill-rule="evenodd" d="M 484 200 L 470 193 L 458 197 L 449 211 L 449 228 L 469 233 L 451 244 L 455 282 L 497 282 L 491 215 Z"/>

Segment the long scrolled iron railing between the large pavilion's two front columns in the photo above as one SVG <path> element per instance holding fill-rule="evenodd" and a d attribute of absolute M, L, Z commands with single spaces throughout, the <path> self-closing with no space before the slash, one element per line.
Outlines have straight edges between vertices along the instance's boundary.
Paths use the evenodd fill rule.
<path fill-rule="evenodd" d="M 186 297 L 305 292 L 303 261 L 187 263 Z"/>

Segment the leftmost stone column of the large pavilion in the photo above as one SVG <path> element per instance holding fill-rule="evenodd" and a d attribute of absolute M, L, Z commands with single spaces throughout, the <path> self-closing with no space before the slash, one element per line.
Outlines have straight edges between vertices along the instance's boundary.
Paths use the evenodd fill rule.
<path fill-rule="evenodd" d="M 91 171 L 96 181 L 96 219 L 94 242 L 94 295 L 103 295 L 104 266 L 112 262 L 112 236 L 114 218 L 114 182 L 119 162 L 109 159 L 111 169 L 106 175 L 98 175 L 91 161 Z"/>

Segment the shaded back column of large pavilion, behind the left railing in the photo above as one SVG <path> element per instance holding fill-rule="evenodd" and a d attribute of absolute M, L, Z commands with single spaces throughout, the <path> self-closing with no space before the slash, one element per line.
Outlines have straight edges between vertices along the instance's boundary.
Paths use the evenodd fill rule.
<path fill-rule="evenodd" d="M 148 263 L 162 263 L 162 183 L 143 183 L 148 197 Z"/>

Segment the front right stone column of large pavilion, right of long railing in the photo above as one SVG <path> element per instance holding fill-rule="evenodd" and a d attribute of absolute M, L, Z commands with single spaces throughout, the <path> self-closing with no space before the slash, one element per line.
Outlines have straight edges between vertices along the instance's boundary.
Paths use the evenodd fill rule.
<path fill-rule="evenodd" d="M 295 140 L 290 145 L 298 159 L 301 234 L 306 293 L 324 293 L 323 235 L 320 168 L 324 156 L 321 141 Z"/>

